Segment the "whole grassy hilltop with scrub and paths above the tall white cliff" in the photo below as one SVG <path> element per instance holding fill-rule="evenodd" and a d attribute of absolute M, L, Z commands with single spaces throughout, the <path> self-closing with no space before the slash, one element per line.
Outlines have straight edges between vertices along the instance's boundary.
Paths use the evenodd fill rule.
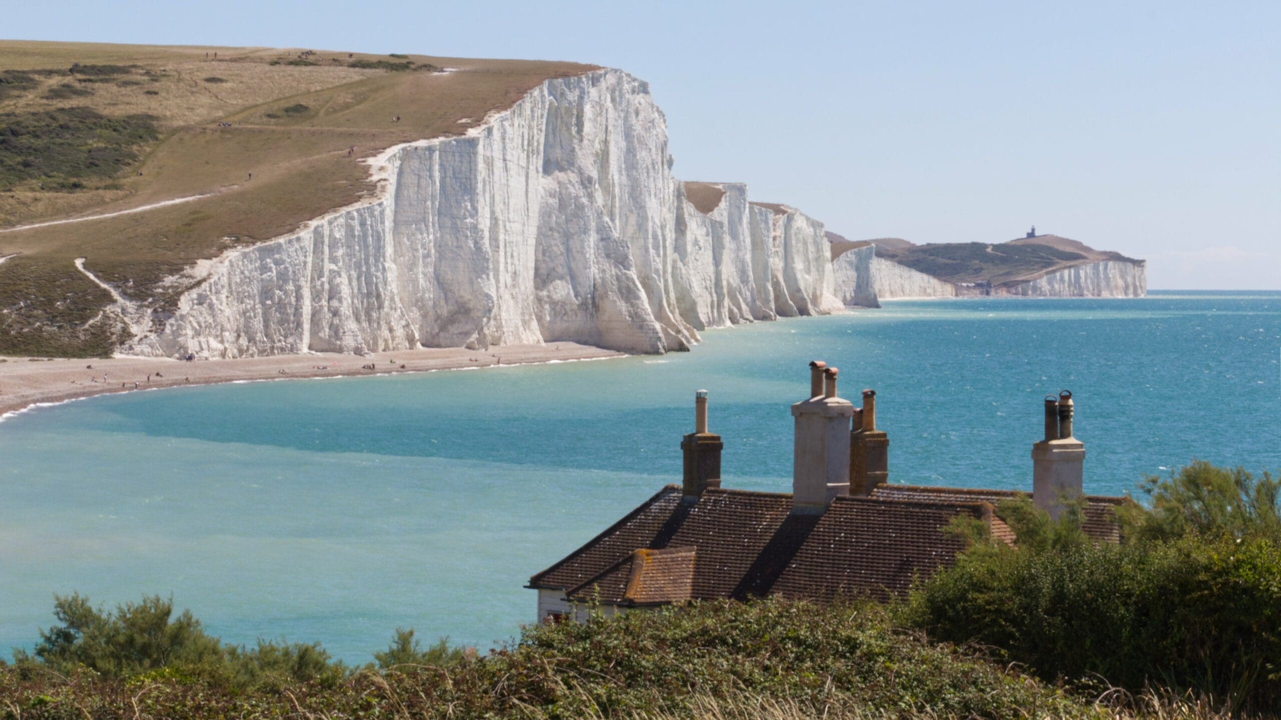
<path fill-rule="evenodd" d="M 183 268 L 369 193 L 360 160 L 461 135 L 547 78 L 591 69 L 0 41 L 0 355 L 111 352 L 122 322 L 78 258 L 129 300 L 165 307 L 190 287 L 164 282 Z M 202 197 L 41 225 L 191 196 Z"/>

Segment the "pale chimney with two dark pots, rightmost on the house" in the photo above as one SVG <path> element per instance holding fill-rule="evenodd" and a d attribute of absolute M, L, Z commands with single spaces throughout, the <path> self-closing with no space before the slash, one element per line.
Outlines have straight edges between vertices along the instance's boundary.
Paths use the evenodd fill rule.
<path fill-rule="evenodd" d="M 1085 443 L 1072 437 L 1072 393 L 1045 397 L 1045 438 L 1032 445 L 1032 502 L 1058 519 L 1084 492 Z"/>

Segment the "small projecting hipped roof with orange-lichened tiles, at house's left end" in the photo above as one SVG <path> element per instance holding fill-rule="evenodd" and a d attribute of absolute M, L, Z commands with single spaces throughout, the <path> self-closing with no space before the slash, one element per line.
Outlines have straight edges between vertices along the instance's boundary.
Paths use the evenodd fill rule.
<path fill-rule="evenodd" d="M 690 597 L 697 548 L 637 550 L 565 594 L 575 602 L 669 605 Z"/>

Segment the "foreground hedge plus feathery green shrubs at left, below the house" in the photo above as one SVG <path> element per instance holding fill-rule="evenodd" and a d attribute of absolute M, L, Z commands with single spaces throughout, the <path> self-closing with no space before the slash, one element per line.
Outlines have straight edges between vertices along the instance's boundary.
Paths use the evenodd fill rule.
<path fill-rule="evenodd" d="M 701 603 L 526 628 L 485 659 L 398 632 L 378 666 L 318 646 L 225 647 L 146 598 L 104 614 L 59 598 L 60 625 L 0 670 L 8 717 L 634 717 L 707 703 L 876 716 L 1098 717 L 1088 700 L 895 629 L 871 603 Z"/>

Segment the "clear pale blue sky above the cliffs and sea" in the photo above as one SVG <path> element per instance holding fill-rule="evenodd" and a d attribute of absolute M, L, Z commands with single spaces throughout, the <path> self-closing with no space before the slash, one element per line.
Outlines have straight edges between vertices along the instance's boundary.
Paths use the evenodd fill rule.
<path fill-rule="evenodd" d="M 0 36 L 546 58 L 651 82 L 675 173 L 851 238 L 1035 223 L 1281 288 L 1281 3 L 5 0 Z"/>

